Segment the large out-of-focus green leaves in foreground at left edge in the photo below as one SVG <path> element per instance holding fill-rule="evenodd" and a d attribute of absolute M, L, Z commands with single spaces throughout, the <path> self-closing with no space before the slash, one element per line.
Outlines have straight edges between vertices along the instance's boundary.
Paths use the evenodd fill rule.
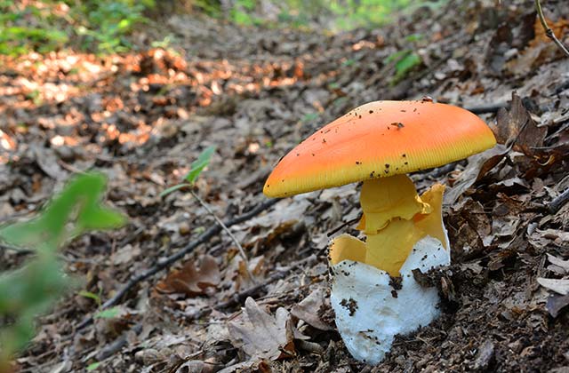
<path fill-rule="evenodd" d="M 100 204 L 106 179 L 84 174 L 49 202 L 38 217 L 0 226 L 0 241 L 35 251 L 18 269 L 0 274 L 0 370 L 34 337 L 34 320 L 73 281 L 63 272 L 58 249 L 77 234 L 124 225 L 123 215 Z"/>

